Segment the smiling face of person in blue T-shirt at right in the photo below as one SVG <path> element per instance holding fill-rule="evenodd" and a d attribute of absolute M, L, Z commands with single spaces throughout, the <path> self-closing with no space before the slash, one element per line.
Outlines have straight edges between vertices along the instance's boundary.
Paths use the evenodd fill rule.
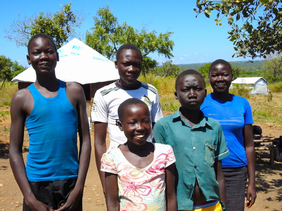
<path fill-rule="evenodd" d="M 208 82 L 210 82 L 213 92 L 229 92 L 229 87 L 232 80 L 233 75 L 226 64 L 216 64 L 210 70 Z"/>

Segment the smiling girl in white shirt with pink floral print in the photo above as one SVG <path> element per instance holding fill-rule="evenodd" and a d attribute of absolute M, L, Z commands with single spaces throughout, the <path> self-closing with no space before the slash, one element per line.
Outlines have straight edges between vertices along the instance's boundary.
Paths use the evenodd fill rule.
<path fill-rule="evenodd" d="M 177 210 L 175 157 L 170 145 L 147 142 L 151 132 L 146 103 L 130 98 L 119 106 L 118 126 L 127 142 L 107 150 L 107 210 Z"/>

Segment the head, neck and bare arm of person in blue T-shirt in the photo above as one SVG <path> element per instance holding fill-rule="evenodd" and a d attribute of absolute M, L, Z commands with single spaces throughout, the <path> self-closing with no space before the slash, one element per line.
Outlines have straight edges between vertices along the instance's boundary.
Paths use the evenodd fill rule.
<path fill-rule="evenodd" d="M 229 87 L 232 80 L 233 75 L 226 64 L 216 64 L 213 66 L 210 70 L 208 79 L 208 82 L 210 82 L 210 85 L 213 88 L 213 97 L 223 102 L 229 101 L 231 99 Z M 248 187 L 245 207 L 250 208 L 255 203 L 255 199 L 257 197 L 255 190 L 255 144 L 253 140 L 252 124 L 245 124 L 242 132 L 248 160 Z"/>

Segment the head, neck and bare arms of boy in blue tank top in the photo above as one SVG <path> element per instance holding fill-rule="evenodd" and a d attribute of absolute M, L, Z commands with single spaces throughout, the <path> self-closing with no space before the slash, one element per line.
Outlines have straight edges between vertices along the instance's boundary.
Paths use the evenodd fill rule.
<path fill-rule="evenodd" d="M 55 76 L 55 66 L 59 61 L 58 53 L 47 38 L 35 38 L 30 45 L 30 54 L 27 61 L 36 71 L 34 86 L 46 98 L 57 95 L 59 83 Z M 76 185 L 69 194 L 67 201 L 62 203 L 58 211 L 75 210 L 83 194 L 84 183 L 90 162 L 91 141 L 86 113 L 86 99 L 82 87 L 76 83 L 66 83 L 67 98 L 78 114 L 79 132 L 79 172 Z M 29 116 L 34 101 L 29 89 L 17 91 L 11 102 L 11 130 L 10 130 L 10 164 L 25 201 L 31 210 L 53 211 L 44 203 L 38 201 L 29 185 L 22 157 L 25 119 Z"/>

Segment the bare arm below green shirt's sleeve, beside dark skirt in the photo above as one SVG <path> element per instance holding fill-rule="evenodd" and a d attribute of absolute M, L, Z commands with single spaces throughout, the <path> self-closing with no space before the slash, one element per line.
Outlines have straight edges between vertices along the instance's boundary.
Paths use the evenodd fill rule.
<path fill-rule="evenodd" d="M 221 160 L 215 161 L 214 166 L 215 166 L 216 181 L 218 182 L 218 185 L 219 185 L 220 200 L 224 203 L 225 210 L 227 210 L 225 180 L 224 180 L 224 176 L 222 173 L 222 161 Z"/>

